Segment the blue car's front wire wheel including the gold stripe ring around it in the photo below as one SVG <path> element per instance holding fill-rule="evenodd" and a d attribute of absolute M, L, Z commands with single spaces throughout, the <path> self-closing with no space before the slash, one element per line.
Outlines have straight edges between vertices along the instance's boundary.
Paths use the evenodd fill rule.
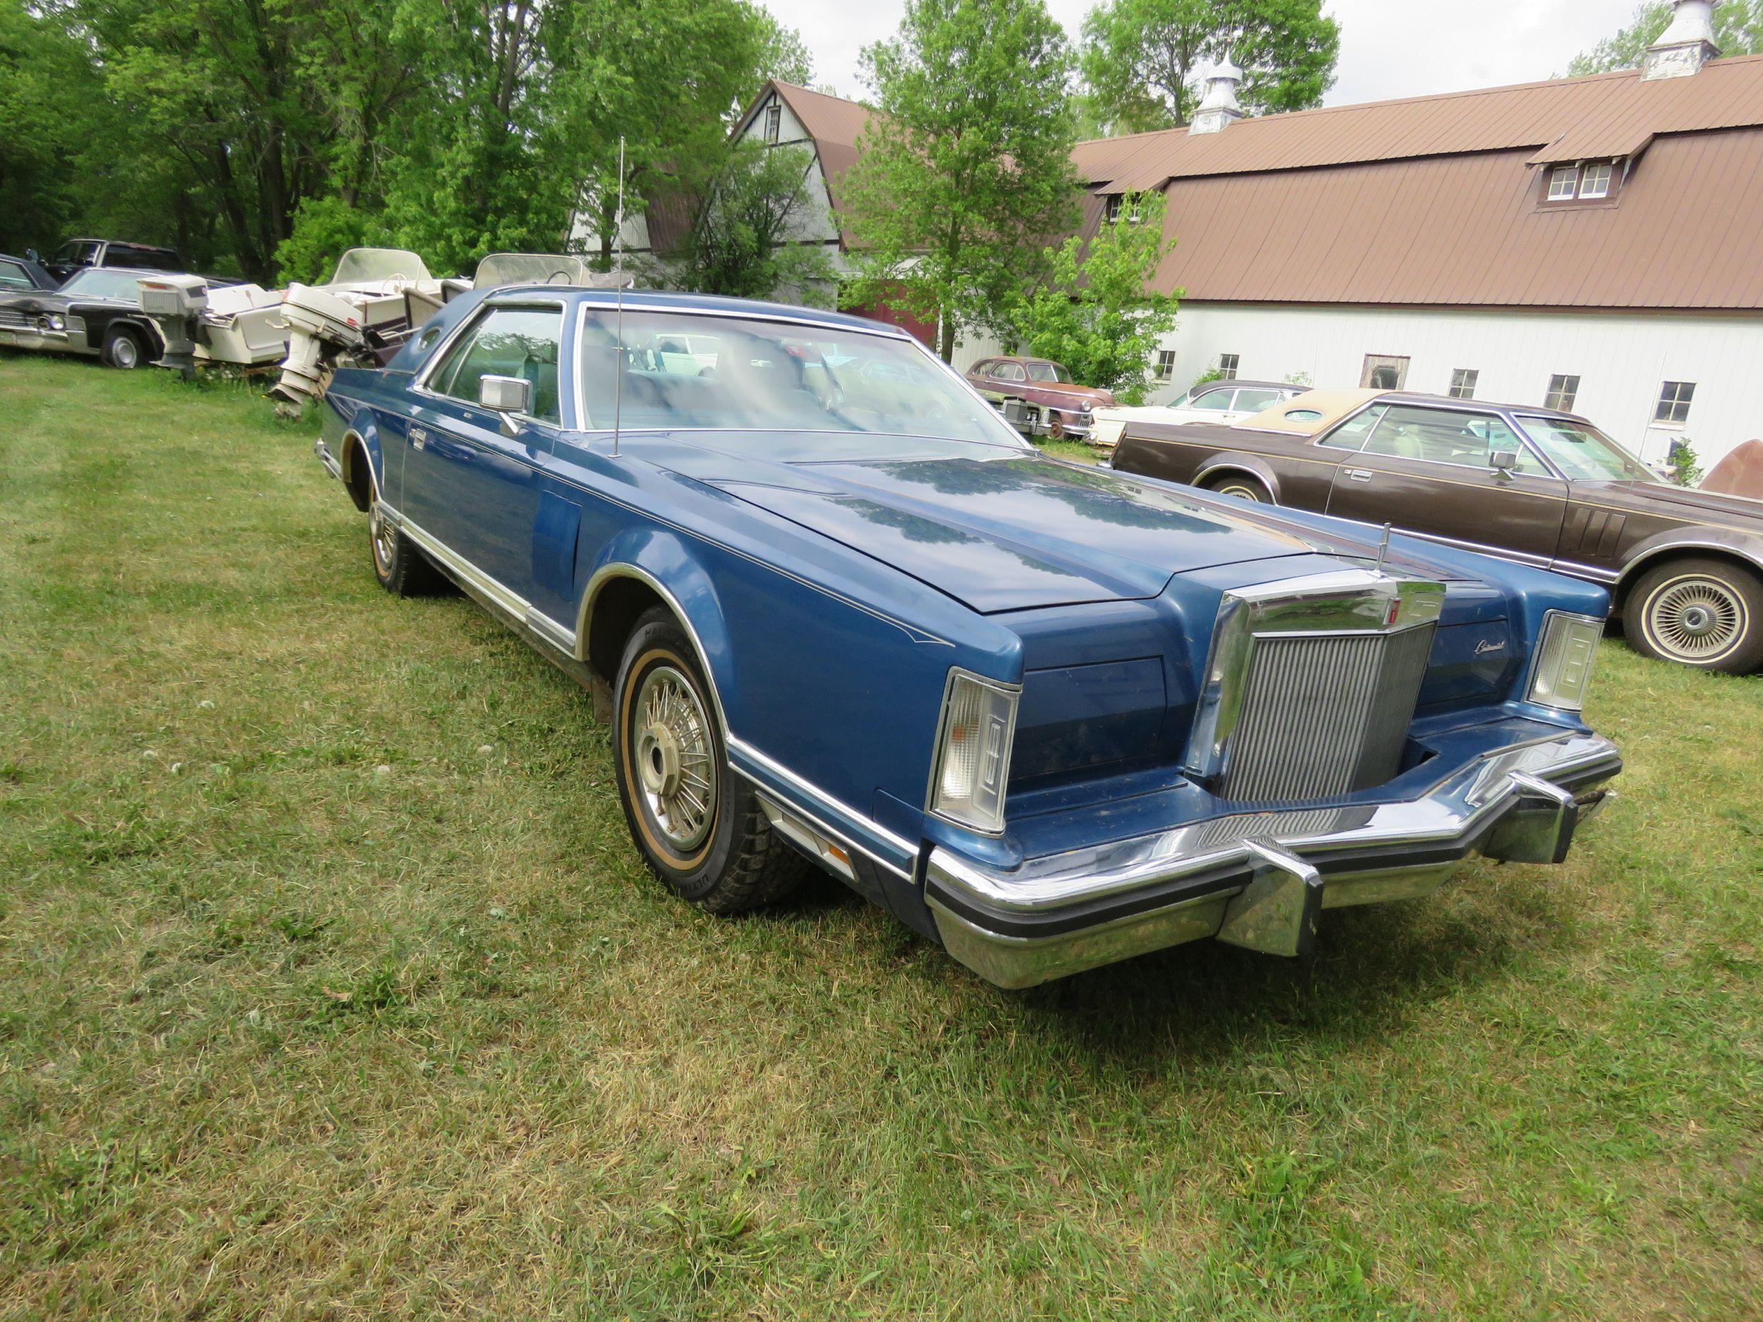
<path fill-rule="evenodd" d="M 624 686 L 621 770 L 643 844 L 686 873 L 716 836 L 721 754 L 688 663 L 666 649 L 640 656 Z"/>

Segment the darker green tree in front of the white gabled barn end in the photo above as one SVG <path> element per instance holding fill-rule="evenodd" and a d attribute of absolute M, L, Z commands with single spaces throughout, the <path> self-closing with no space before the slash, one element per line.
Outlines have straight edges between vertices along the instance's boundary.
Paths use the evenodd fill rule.
<path fill-rule="evenodd" d="M 702 189 L 675 282 L 730 298 L 818 301 L 836 279 L 811 234 L 827 204 L 811 196 L 815 153 L 800 146 L 740 141 Z"/>

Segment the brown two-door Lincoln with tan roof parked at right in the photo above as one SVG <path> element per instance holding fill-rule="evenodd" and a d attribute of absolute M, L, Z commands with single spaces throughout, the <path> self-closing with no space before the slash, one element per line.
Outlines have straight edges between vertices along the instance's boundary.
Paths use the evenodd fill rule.
<path fill-rule="evenodd" d="M 1569 412 L 1315 390 L 1229 427 L 1127 423 L 1114 467 L 1604 583 L 1638 650 L 1763 666 L 1763 501 L 1664 483 Z"/>

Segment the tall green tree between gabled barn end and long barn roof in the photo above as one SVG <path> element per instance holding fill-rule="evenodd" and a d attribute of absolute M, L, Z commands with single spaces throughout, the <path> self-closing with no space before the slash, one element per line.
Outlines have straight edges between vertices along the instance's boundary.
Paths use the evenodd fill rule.
<path fill-rule="evenodd" d="M 1070 48 L 1042 0 L 906 0 L 862 55 L 878 109 L 846 176 L 848 300 L 941 319 L 940 353 L 1000 328 L 1075 224 Z"/>

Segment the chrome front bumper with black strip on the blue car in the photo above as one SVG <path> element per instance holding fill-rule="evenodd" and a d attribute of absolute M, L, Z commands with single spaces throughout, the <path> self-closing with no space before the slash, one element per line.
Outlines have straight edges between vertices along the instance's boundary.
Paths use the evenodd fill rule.
<path fill-rule="evenodd" d="M 936 848 L 926 899 L 948 954 L 1000 987 L 1204 936 L 1299 955 L 1320 910 L 1426 895 L 1477 855 L 1562 862 L 1620 770 L 1610 740 L 1564 735 L 1477 758 L 1421 798 L 1218 816 L 1012 873 Z"/>

